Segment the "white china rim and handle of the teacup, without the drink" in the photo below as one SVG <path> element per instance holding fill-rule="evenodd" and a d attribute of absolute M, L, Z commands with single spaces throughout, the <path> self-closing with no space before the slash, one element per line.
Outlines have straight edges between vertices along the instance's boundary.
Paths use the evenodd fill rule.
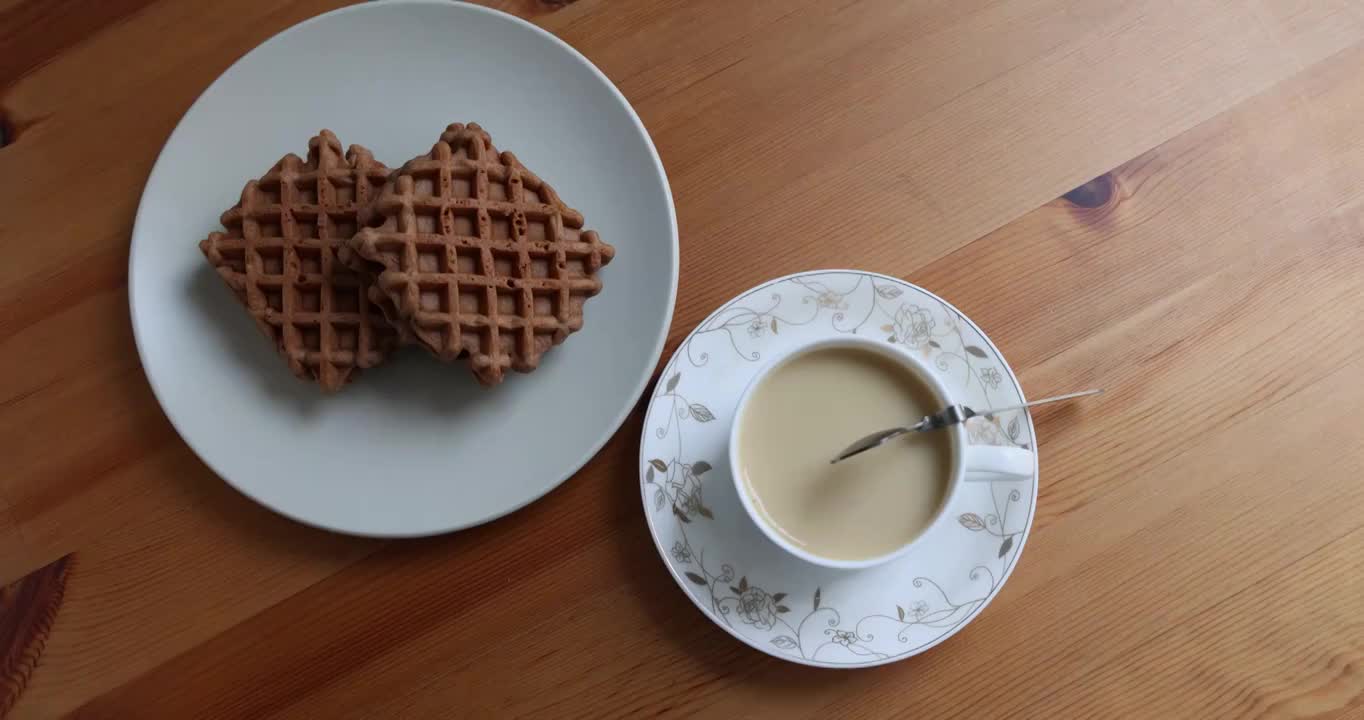
<path fill-rule="evenodd" d="M 752 498 L 753 490 L 746 479 L 746 472 L 749 465 L 742 457 L 743 449 L 739 442 L 741 431 L 746 421 L 752 421 L 747 417 L 747 410 L 750 401 L 753 398 L 754 390 L 767 380 L 773 371 L 784 367 L 792 360 L 806 356 L 817 350 L 827 350 L 835 348 L 846 348 L 861 352 L 876 353 L 884 359 L 891 360 L 895 365 L 903 367 L 906 371 L 913 374 L 917 380 L 933 395 L 934 408 L 928 412 L 938 412 L 948 405 L 959 404 L 960 401 L 953 397 L 948 387 L 943 383 L 938 375 L 928 367 L 922 360 L 913 356 L 908 350 L 899 345 L 893 345 L 884 341 L 866 340 L 857 335 L 848 335 L 843 338 L 820 340 L 809 344 L 803 344 L 794 348 L 784 355 L 771 360 L 765 368 L 762 368 L 745 389 L 743 395 L 739 398 L 738 409 L 734 413 L 734 424 L 730 428 L 730 468 L 731 476 L 734 477 L 735 491 L 739 494 L 739 500 L 743 503 L 745 511 L 753 518 L 753 522 L 780 548 L 786 550 L 791 555 L 801 558 L 806 562 L 821 565 L 825 567 L 837 569 L 863 569 L 877 565 L 883 565 L 896 558 L 904 556 L 910 550 L 918 544 L 918 541 L 928 533 L 929 529 L 937 526 L 938 524 L 951 522 L 947 509 L 953 506 L 962 485 L 968 481 L 989 481 L 1003 479 L 1027 479 L 1031 477 L 1035 468 L 1035 460 L 1031 451 L 1019 447 L 996 447 L 983 445 L 970 445 L 967 442 L 966 427 L 963 424 L 949 425 L 943 430 L 934 430 L 930 432 L 944 432 L 951 439 L 952 461 L 951 472 L 947 473 L 945 490 L 941 494 L 941 500 L 933 511 L 930 520 L 925 522 L 918 532 L 910 537 L 904 544 L 896 547 L 889 552 L 884 552 L 876 556 L 861 558 L 861 559 L 840 559 L 822 556 L 812 550 L 803 548 L 788 540 L 780 530 L 772 526 L 769 520 L 761 513 Z M 904 417 L 896 420 L 893 424 L 913 425 L 918 423 L 919 417 Z M 893 424 L 887 427 L 893 427 Z M 877 428 L 873 428 L 877 430 Z M 836 428 L 829 428 L 828 434 L 828 457 L 832 458 L 835 453 L 842 450 L 844 446 L 858 439 L 858 436 L 866 434 L 868 430 L 862 428 L 850 430 L 843 434 Z M 824 447 L 824 439 L 820 438 L 821 451 Z M 898 440 L 891 440 L 898 442 Z M 874 449 L 869 453 L 885 451 L 884 449 Z M 858 458 L 850 458 L 847 464 L 855 464 Z M 855 468 L 855 465 L 854 465 Z M 907 479 L 908 481 L 908 479 Z M 836 495 L 836 492 L 835 492 Z M 831 502 L 836 502 L 836 498 Z M 928 506 L 925 506 L 928 507 Z M 898 540 L 898 539 L 896 539 Z"/>

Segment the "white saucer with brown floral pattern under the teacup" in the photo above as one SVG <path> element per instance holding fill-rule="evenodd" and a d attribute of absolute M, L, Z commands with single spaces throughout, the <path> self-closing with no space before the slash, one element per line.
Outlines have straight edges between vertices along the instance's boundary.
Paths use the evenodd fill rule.
<path fill-rule="evenodd" d="M 936 295 L 874 273 L 821 270 L 747 290 L 693 330 L 663 371 L 640 443 L 649 529 L 687 597 L 768 655 L 840 668 L 900 660 L 964 627 L 1018 563 L 1037 505 L 1035 466 L 1026 481 L 968 483 L 949 522 L 870 570 L 809 565 L 768 540 L 730 477 L 735 405 L 767 357 L 847 333 L 922 353 L 967 405 L 1023 402 L 998 349 Z M 1031 447 L 1033 420 L 1027 412 L 975 419 L 967 435 Z M 836 440 L 831 453 L 846 445 Z"/>

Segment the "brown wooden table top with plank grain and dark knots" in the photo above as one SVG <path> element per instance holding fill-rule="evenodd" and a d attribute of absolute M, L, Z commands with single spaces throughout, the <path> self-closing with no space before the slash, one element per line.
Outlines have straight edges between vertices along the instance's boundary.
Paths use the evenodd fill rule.
<path fill-rule="evenodd" d="M 340 4 L 0 0 L 0 716 L 1364 717 L 1364 5 L 499 3 L 653 134 L 668 353 L 857 266 L 951 299 L 1028 394 L 1108 387 L 1037 413 L 981 618 L 836 672 L 674 586 L 638 410 L 529 509 L 393 543 L 252 505 L 172 431 L 128 325 L 142 183 L 218 72 Z"/>

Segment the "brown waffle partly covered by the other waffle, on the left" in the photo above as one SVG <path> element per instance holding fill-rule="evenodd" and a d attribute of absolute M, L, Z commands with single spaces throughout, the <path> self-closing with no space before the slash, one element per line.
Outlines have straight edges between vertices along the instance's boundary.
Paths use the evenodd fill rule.
<path fill-rule="evenodd" d="M 360 368 L 378 365 L 398 334 L 370 301 L 370 281 L 337 260 L 337 250 L 370 221 L 371 202 L 389 169 L 368 150 L 323 130 L 308 140 L 308 160 L 285 155 L 222 214 L 199 250 L 289 370 L 326 391 Z"/>

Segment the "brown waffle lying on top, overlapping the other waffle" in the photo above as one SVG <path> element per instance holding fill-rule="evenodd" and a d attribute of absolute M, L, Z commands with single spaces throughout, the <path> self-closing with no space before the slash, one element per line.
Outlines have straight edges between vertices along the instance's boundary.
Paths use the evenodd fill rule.
<path fill-rule="evenodd" d="M 385 185 L 351 248 L 419 345 L 483 385 L 531 372 L 582 327 L 615 250 L 476 124 L 453 124 Z"/>

